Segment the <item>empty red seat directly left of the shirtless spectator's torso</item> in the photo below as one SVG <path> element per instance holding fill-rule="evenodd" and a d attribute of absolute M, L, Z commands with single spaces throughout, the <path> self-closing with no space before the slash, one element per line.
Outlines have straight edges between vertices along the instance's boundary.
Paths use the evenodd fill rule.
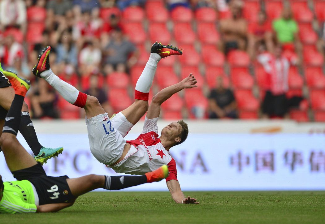
<path fill-rule="evenodd" d="M 198 23 L 198 35 L 202 43 L 215 44 L 220 36 L 214 23 Z"/>

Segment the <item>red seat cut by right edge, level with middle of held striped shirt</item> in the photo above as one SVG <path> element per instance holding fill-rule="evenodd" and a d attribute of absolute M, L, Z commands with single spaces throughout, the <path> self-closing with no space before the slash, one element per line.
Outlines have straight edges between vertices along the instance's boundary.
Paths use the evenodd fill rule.
<path fill-rule="evenodd" d="M 325 89 L 325 76 L 322 68 L 305 68 L 307 85 L 311 88 Z"/>

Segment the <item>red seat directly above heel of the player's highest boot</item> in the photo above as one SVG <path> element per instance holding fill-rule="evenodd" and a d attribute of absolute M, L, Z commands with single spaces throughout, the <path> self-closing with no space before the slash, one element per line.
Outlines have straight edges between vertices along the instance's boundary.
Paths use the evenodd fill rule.
<path fill-rule="evenodd" d="M 170 43 L 171 35 L 165 23 L 151 23 L 149 26 L 149 37 L 152 43 L 158 41 Z"/>

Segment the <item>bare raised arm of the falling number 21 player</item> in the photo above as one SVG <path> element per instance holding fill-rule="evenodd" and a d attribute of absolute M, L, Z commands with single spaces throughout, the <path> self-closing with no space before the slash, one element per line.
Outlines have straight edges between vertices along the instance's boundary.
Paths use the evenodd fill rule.
<path fill-rule="evenodd" d="M 147 112 L 146 117 L 148 119 L 157 118 L 160 115 L 160 106 L 163 102 L 168 100 L 173 94 L 181 91 L 182 89 L 190 89 L 193 87 L 197 87 L 195 77 L 193 74 L 189 74 L 188 77 L 183 79 L 182 81 L 176 83 L 175 85 L 164 88 L 159 93 L 154 95 L 152 98 L 152 102 L 149 106 L 149 110 Z"/>

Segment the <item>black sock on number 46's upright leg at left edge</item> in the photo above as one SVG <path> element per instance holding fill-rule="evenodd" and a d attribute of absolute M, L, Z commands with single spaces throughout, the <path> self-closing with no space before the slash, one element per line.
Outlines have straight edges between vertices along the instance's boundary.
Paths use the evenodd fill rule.
<path fill-rule="evenodd" d="M 20 124 L 20 111 L 24 96 L 15 94 L 14 100 L 11 103 L 10 109 L 5 118 L 5 124 L 2 132 L 8 132 L 17 136 Z"/>

